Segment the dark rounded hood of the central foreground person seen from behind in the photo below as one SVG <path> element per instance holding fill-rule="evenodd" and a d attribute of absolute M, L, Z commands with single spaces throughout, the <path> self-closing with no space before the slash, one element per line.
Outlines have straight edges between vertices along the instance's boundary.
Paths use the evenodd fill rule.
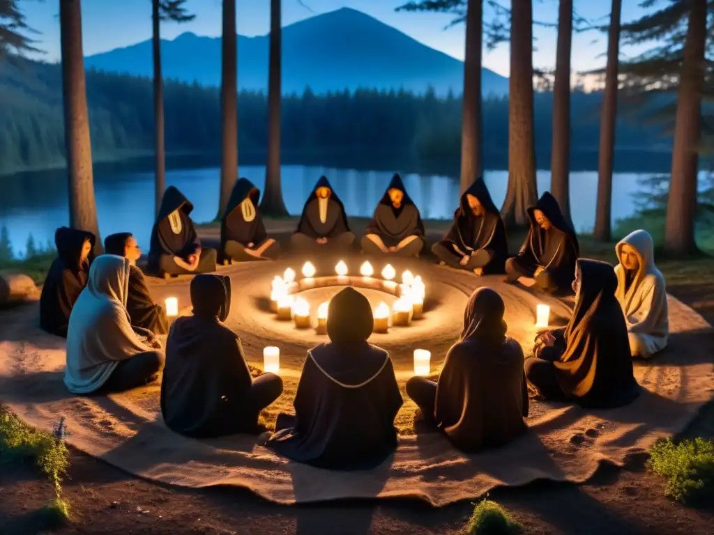
<path fill-rule="evenodd" d="M 327 312 L 327 335 L 332 342 L 364 342 L 373 328 L 372 307 L 360 292 L 348 286 L 332 298 Z"/>

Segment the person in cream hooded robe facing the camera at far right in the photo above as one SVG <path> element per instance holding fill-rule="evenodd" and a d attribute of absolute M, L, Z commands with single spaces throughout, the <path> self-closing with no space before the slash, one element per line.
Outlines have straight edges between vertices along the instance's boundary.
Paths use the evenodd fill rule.
<path fill-rule="evenodd" d="M 635 230 L 615 246 L 618 289 L 633 357 L 650 358 L 667 347 L 669 312 L 665 277 L 655 266 L 652 236 Z"/>

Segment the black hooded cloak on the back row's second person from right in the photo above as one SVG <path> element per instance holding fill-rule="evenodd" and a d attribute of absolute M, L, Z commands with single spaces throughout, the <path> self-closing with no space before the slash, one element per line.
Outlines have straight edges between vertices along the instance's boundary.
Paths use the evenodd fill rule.
<path fill-rule="evenodd" d="M 473 215 L 468 205 L 466 195 L 473 195 L 486 209 L 486 215 Z M 503 225 L 501 213 L 491 199 L 486 182 L 478 178 L 461 195 L 461 203 L 454 214 L 453 223 L 441 242 L 446 250 L 458 256 L 454 246 L 461 253 L 469 254 L 472 251 L 488 250 L 491 261 L 483 267 L 483 274 L 502 273 L 503 265 L 508 258 L 508 240 L 506 239 L 506 225 Z"/>

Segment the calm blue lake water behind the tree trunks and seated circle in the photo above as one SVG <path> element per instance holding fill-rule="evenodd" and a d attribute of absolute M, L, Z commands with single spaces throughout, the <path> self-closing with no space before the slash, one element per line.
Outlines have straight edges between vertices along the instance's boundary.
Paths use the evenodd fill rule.
<path fill-rule="evenodd" d="M 318 165 L 283 165 L 283 197 L 288 211 L 299 215 L 313 185 L 326 175 L 343 200 L 348 215 L 369 216 L 384 193 L 393 170 L 373 171 L 330 168 Z M 241 165 L 240 175 L 258 188 L 265 183 L 265 166 Z M 167 185 L 175 185 L 193 203 L 191 217 L 197 223 L 213 220 L 218 208 L 218 167 L 174 168 L 167 170 Z M 456 178 L 438 174 L 404 173 L 409 195 L 421 210 L 422 218 L 451 219 L 458 205 Z M 486 171 L 493 201 L 500 206 L 506 195 L 508 172 Z M 635 195 L 640 192 L 638 173 L 616 173 L 613 178 L 613 221 L 633 213 Z M 598 174 L 570 174 L 570 208 L 578 231 L 590 230 L 595 220 Z M 127 169 L 121 165 L 96 165 L 95 195 L 99 230 L 106 235 L 129 231 L 144 250 L 149 248 L 154 223 L 154 173 Z M 9 230 L 16 253 L 21 254 L 31 234 L 38 244 L 54 242 L 54 231 L 69 221 L 66 171 L 18 173 L 0 177 L 0 226 Z M 538 171 L 538 193 L 550 187 L 550 172 Z"/>

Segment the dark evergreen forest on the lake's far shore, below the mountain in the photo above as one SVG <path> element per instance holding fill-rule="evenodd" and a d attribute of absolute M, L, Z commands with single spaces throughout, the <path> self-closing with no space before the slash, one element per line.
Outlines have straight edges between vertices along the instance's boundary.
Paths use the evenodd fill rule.
<path fill-rule="evenodd" d="M 149 78 L 100 71 L 86 73 L 92 152 L 95 158 L 153 151 L 154 108 Z M 601 93 L 575 91 L 571 167 L 597 167 Z M 64 162 L 61 70 L 17 56 L 0 62 L 0 173 L 46 168 Z M 220 91 L 167 81 L 164 95 L 166 150 L 218 153 L 221 146 Z M 535 144 L 539 168 L 550 163 L 553 98 L 535 94 Z M 661 170 L 669 165 L 671 141 L 657 125 L 623 111 L 618 121 L 620 170 Z M 241 158 L 266 152 L 267 99 L 263 93 L 238 95 Z M 508 163 L 508 100 L 483 103 L 486 168 Z M 283 97 L 282 150 L 286 155 L 353 153 L 398 156 L 418 161 L 458 161 L 461 153 L 461 98 L 433 92 L 361 89 Z M 644 158 L 643 153 L 653 158 Z M 653 168 L 654 165 L 654 168 Z"/>

